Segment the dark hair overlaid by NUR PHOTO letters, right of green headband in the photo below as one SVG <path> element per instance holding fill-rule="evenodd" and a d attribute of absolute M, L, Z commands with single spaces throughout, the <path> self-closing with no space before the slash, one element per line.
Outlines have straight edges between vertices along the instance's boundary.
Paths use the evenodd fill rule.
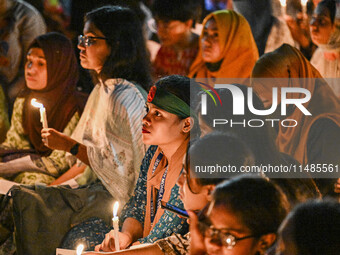
<path fill-rule="evenodd" d="M 261 163 L 281 163 L 281 155 L 278 152 L 275 142 L 273 130 L 264 121 L 263 116 L 258 116 L 251 113 L 248 109 L 248 87 L 240 84 L 233 84 L 237 88 L 241 89 L 244 95 L 244 115 L 234 115 L 233 114 L 233 103 L 234 97 L 229 89 L 215 89 L 217 94 L 220 96 L 222 105 L 215 105 L 215 102 L 207 97 L 207 114 L 200 115 L 200 118 L 210 126 L 214 131 L 230 132 L 241 137 L 244 142 L 250 147 L 255 155 L 256 164 Z M 212 92 L 212 91 L 211 91 Z M 213 92 L 212 92 L 213 93 Z M 264 109 L 261 99 L 252 93 L 253 105 L 257 110 Z M 201 104 L 198 103 L 196 106 L 196 113 L 199 114 L 201 109 Z M 214 119 L 227 119 L 227 124 L 217 124 L 214 127 Z M 251 119 L 261 119 L 264 122 L 262 127 L 250 127 L 247 123 Z M 235 124 L 231 126 L 231 120 Z"/>

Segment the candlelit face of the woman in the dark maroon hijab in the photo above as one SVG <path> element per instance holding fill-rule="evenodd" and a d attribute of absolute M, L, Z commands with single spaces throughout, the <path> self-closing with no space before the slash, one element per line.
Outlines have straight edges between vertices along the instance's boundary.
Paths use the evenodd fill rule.
<path fill-rule="evenodd" d="M 29 49 L 25 64 L 26 85 L 32 90 L 42 90 L 47 86 L 47 64 L 41 48 Z"/>

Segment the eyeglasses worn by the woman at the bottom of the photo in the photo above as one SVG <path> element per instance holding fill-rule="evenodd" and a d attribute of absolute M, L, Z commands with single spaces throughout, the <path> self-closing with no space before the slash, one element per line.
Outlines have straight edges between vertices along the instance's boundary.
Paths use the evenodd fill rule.
<path fill-rule="evenodd" d="M 212 225 L 209 225 L 205 221 L 199 221 L 198 226 L 200 232 L 208 238 L 211 238 L 214 243 L 223 245 L 227 247 L 227 249 L 232 249 L 236 245 L 238 241 L 245 240 L 248 238 L 254 238 L 254 235 L 247 235 L 244 237 L 235 237 L 234 235 L 223 231 L 228 231 L 228 229 L 217 229 L 214 228 Z"/>

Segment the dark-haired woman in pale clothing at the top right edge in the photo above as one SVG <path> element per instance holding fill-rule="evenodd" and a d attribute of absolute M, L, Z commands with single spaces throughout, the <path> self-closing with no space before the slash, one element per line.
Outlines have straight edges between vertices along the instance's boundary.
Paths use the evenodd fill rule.
<path fill-rule="evenodd" d="M 336 7 L 335 0 L 321 1 L 310 22 L 312 41 L 318 45 L 311 63 L 324 78 L 340 78 L 340 27 L 335 19 Z M 340 97 L 338 79 L 328 79 L 327 82 Z"/>

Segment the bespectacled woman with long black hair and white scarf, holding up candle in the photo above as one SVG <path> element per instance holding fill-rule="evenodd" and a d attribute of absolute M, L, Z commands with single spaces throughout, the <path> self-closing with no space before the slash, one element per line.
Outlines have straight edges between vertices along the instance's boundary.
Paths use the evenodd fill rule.
<path fill-rule="evenodd" d="M 132 194 L 145 154 L 142 94 L 151 78 L 142 25 L 132 10 L 104 6 L 85 15 L 84 35 L 78 39 L 80 63 L 90 70 L 96 86 L 71 137 L 48 128 L 42 130 L 42 139 L 46 146 L 70 152 L 91 167 L 123 205 Z M 74 166 L 55 184 L 84 168 Z M 91 170 L 87 168 L 84 175 L 91 177 Z"/>

